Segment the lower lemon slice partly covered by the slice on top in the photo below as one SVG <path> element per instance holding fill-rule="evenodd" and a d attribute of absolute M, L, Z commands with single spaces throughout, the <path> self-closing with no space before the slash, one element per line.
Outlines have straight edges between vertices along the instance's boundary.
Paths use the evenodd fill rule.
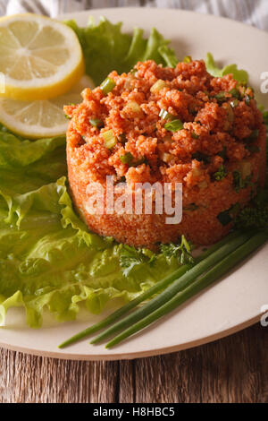
<path fill-rule="evenodd" d="M 63 106 L 80 103 L 80 93 L 85 88 L 94 88 L 88 76 L 83 76 L 68 93 L 55 99 L 19 101 L 0 98 L 0 122 L 13 133 L 29 139 L 60 136 L 66 133 L 68 126 Z"/>

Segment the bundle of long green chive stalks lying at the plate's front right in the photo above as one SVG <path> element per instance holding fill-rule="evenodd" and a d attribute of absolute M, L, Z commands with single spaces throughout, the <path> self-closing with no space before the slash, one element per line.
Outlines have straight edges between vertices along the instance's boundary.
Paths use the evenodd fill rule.
<path fill-rule="evenodd" d="M 188 298 L 195 296 L 208 285 L 211 285 L 216 279 L 230 271 L 234 265 L 242 262 L 257 247 L 263 245 L 266 240 L 267 235 L 264 233 L 253 236 L 251 232 L 240 234 L 236 231 L 230 234 L 230 236 L 210 247 L 200 257 L 197 257 L 195 267 L 192 267 L 192 264 L 180 267 L 178 271 L 172 273 L 172 276 L 158 281 L 154 287 L 147 289 L 143 294 L 131 300 L 130 303 L 121 307 L 105 320 L 64 341 L 60 348 L 86 338 L 109 325 L 109 328 L 97 335 L 90 343 L 96 344 L 113 337 L 106 345 L 106 348 L 112 348 L 123 339 L 127 339 L 130 335 L 145 329 L 163 315 L 171 313 Z M 160 294 L 158 294 L 159 292 Z M 122 315 L 128 314 L 130 310 L 152 296 L 155 296 L 155 298 L 152 298 L 150 302 L 117 322 Z M 128 327 L 129 329 L 123 331 Z M 119 331 L 121 331 L 121 334 L 114 338 L 114 334 Z"/>

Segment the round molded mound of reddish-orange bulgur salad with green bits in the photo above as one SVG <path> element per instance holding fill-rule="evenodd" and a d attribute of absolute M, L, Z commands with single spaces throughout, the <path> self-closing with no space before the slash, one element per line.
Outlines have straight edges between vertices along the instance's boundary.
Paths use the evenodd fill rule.
<path fill-rule="evenodd" d="M 204 61 L 175 68 L 149 60 L 130 73 L 110 73 L 71 117 L 67 155 L 71 195 L 88 228 L 135 246 L 187 236 L 208 245 L 226 235 L 231 216 L 265 178 L 265 126 L 254 91 L 232 74 L 213 77 Z M 180 224 L 166 215 L 88 211 L 88 185 L 182 184 Z"/>

